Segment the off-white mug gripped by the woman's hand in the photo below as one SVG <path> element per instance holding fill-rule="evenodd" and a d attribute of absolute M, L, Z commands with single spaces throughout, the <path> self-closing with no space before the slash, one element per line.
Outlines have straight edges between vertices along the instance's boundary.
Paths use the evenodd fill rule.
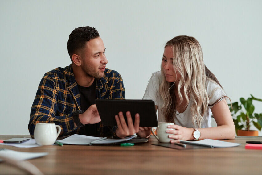
<path fill-rule="evenodd" d="M 151 128 L 151 132 L 153 133 L 153 135 L 155 136 L 155 138 L 157 138 L 159 142 L 169 143 L 171 140 L 174 140 L 174 139 L 168 138 L 168 135 L 173 135 L 173 134 L 166 133 L 166 130 L 175 130 L 175 129 L 167 128 L 168 125 L 174 125 L 174 123 L 158 122 L 158 127 L 156 131 L 157 135 L 155 135 L 155 133 L 153 132 L 153 127 Z"/>

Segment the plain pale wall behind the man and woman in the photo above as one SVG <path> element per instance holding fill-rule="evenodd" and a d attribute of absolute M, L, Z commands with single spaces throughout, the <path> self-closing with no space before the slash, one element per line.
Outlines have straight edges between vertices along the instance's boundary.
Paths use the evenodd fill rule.
<path fill-rule="evenodd" d="M 0 134 L 29 134 L 30 109 L 44 73 L 71 63 L 76 27 L 104 40 L 108 68 L 121 73 L 127 99 L 141 99 L 160 69 L 166 41 L 194 36 L 232 102 L 262 98 L 262 1 L 0 1 Z M 254 102 L 262 112 L 262 102 Z M 261 135 L 261 133 L 260 133 Z"/>

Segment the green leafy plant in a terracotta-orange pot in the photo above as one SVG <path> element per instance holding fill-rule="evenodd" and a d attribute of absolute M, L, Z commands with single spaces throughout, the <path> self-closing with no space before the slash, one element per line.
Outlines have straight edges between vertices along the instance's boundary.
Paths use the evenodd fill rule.
<path fill-rule="evenodd" d="M 251 95 L 251 98 L 248 98 L 247 100 L 240 98 L 240 103 L 234 102 L 232 103 L 232 106 L 231 104 L 228 104 L 235 124 L 235 131 L 238 136 L 258 136 L 258 131 L 250 130 L 252 124 L 261 131 L 262 113 L 253 114 L 255 106 L 252 104 L 252 100 L 262 102 L 262 99 L 255 98 Z M 242 106 L 244 107 L 245 112 L 241 110 L 243 109 Z"/>

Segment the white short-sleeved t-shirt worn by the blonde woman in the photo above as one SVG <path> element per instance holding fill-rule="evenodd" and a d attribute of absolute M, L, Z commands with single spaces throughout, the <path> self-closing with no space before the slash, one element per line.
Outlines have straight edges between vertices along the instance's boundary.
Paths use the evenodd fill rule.
<path fill-rule="evenodd" d="M 154 72 L 149 80 L 149 83 L 147 85 L 147 88 L 145 90 L 145 94 L 143 99 L 145 100 L 153 100 L 155 102 L 155 105 L 158 106 L 158 122 L 166 122 L 164 114 L 161 110 L 164 101 L 161 97 L 161 95 L 159 94 L 159 86 L 161 84 L 162 81 L 162 75 L 161 75 L 161 71 L 158 72 Z M 206 79 L 206 90 L 207 90 L 207 95 L 209 96 L 212 92 L 212 90 L 214 90 L 215 88 L 220 87 L 219 85 L 217 85 L 216 83 Z M 225 92 L 223 91 L 222 88 L 216 89 L 213 96 L 209 99 L 209 104 L 213 104 L 215 103 L 215 101 L 217 101 L 220 97 L 226 95 Z M 222 98 L 223 99 L 223 98 Z M 220 101 L 222 100 L 220 99 Z M 176 115 L 174 117 L 174 121 L 175 124 L 179 125 L 179 126 L 183 126 L 183 127 L 187 127 L 187 128 L 191 128 L 194 127 L 193 122 L 192 122 L 192 114 L 190 111 L 190 108 L 192 106 L 192 100 L 191 98 L 189 99 L 189 104 L 186 108 L 186 110 L 183 113 L 178 113 L 176 111 Z M 205 115 L 203 116 L 203 121 L 201 123 L 201 128 L 206 128 L 206 127 L 211 127 L 211 116 L 212 116 L 212 112 L 211 112 L 211 108 L 213 106 L 208 106 L 207 107 L 207 111 L 205 113 Z"/>

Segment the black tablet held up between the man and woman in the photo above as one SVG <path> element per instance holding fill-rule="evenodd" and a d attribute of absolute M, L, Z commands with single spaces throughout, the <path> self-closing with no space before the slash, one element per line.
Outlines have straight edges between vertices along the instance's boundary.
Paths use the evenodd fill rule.
<path fill-rule="evenodd" d="M 118 115 L 120 111 L 123 112 L 126 123 L 125 113 L 130 111 L 133 123 L 135 121 L 135 114 L 139 113 L 140 127 L 158 126 L 156 108 L 153 100 L 96 99 L 95 103 L 101 118 L 101 123 L 105 126 L 117 126 L 115 115 Z"/>

